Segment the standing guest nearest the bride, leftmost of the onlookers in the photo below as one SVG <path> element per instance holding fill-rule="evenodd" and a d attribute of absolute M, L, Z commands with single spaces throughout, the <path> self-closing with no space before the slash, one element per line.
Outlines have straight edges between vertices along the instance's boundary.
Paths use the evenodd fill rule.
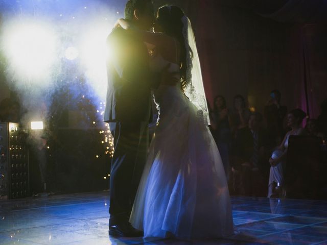
<path fill-rule="evenodd" d="M 231 132 L 229 127 L 229 115 L 226 100 L 222 95 L 217 95 L 214 100 L 212 111 L 213 136 L 218 146 L 223 161 L 227 180 L 229 179 L 229 150 L 231 144 Z"/>

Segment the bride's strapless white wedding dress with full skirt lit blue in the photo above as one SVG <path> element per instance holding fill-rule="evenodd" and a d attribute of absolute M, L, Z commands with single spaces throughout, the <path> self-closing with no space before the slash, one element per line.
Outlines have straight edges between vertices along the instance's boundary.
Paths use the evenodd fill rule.
<path fill-rule="evenodd" d="M 150 66 L 159 71 L 168 63 L 157 52 Z M 170 71 L 179 73 L 179 66 L 171 63 Z M 145 237 L 232 235 L 225 171 L 198 109 L 184 95 L 180 84 L 160 85 L 154 96 L 159 118 L 131 224 L 143 230 Z"/>

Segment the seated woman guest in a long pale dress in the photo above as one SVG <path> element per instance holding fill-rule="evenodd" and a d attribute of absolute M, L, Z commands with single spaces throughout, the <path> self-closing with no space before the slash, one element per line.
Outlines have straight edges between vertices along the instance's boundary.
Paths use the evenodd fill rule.
<path fill-rule="evenodd" d="M 270 175 L 268 182 L 268 198 L 282 196 L 285 197 L 283 165 L 287 164 L 288 140 L 291 135 L 302 135 L 304 130 L 301 127 L 302 120 L 306 113 L 301 109 L 294 109 L 287 114 L 287 126 L 291 128 L 284 137 L 281 145 L 272 153 L 269 159 Z"/>

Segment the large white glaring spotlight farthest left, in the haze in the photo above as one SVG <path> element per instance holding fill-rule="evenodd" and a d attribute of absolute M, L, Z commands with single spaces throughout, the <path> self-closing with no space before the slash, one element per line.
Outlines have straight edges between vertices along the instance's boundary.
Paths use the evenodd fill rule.
<path fill-rule="evenodd" d="M 51 28 L 36 23 L 12 23 L 4 33 L 11 68 L 21 77 L 42 79 L 56 58 L 56 37 Z"/>

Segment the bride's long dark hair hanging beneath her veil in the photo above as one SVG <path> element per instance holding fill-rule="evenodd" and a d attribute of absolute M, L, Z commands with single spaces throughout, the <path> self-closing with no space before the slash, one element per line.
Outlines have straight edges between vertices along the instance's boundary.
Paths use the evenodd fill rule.
<path fill-rule="evenodd" d="M 184 16 L 184 12 L 178 8 L 177 6 L 162 6 L 158 9 L 156 21 L 161 27 L 161 31 L 171 37 L 174 37 L 178 40 L 180 44 L 180 76 L 182 79 L 181 88 L 185 89 L 186 84 L 191 81 L 187 81 L 186 79 L 186 69 L 187 69 L 187 62 L 186 62 L 186 46 L 185 46 L 185 39 L 183 36 L 183 21 L 182 17 Z M 187 28 L 187 27 L 186 27 Z M 187 35 L 187 29 L 186 31 Z M 189 48 L 191 52 L 191 57 L 193 56 L 191 48 Z"/>

